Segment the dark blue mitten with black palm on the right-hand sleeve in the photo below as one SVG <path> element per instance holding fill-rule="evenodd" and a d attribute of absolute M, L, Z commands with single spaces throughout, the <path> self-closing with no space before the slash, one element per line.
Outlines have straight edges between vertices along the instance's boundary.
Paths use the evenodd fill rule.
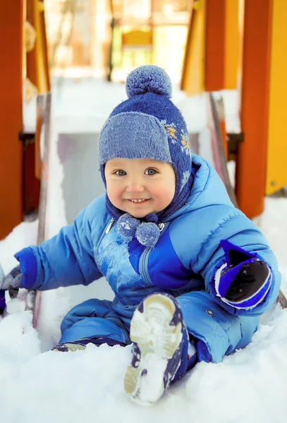
<path fill-rule="evenodd" d="M 221 240 L 226 264 L 216 272 L 215 290 L 222 301 L 238 309 L 252 309 L 267 295 L 271 269 L 256 253 Z"/>

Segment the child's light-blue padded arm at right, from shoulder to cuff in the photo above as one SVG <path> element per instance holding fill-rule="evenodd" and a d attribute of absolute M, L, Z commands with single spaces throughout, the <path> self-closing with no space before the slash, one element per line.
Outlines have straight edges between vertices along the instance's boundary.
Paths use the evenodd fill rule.
<path fill-rule="evenodd" d="M 183 266 L 194 271 L 195 274 L 201 275 L 204 278 L 205 290 L 211 293 L 214 300 L 231 314 L 262 314 L 276 301 L 281 283 L 276 257 L 259 228 L 240 210 L 228 206 L 228 204 L 214 204 L 209 207 L 197 208 L 176 219 L 169 228 L 169 235 L 173 249 Z M 246 256 L 248 253 L 251 253 L 250 256 L 256 255 L 256 259 L 261 259 L 264 265 L 266 264 L 267 271 L 270 271 L 270 283 L 269 286 L 268 283 L 266 285 L 268 292 L 255 307 L 239 309 L 228 305 L 228 300 L 226 301 L 224 298 L 227 292 L 226 287 L 230 287 L 233 282 L 231 278 L 233 272 L 229 273 L 230 269 L 227 269 L 226 266 L 226 252 L 222 246 L 224 243 L 221 245 L 223 240 L 243 249 Z M 245 261 L 245 258 L 242 262 Z M 251 259 L 251 261 L 253 260 Z M 225 278 L 221 278 L 224 276 L 224 265 L 226 275 Z M 222 274 L 221 272 L 216 274 L 220 268 Z M 233 276 L 235 275 L 233 274 Z M 216 286 L 218 281 L 223 284 L 220 283 Z M 180 287 L 181 285 L 178 283 L 178 286 L 171 288 Z M 223 292 L 224 289 L 225 292 Z"/>

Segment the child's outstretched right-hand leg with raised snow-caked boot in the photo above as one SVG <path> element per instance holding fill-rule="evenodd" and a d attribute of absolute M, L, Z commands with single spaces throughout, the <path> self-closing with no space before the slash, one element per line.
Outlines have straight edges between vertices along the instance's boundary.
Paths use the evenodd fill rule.
<path fill-rule="evenodd" d="M 133 359 L 125 376 L 126 393 L 141 405 L 154 403 L 197 361 L 221 362 L 248 345 L 257 324 L 258 317 L 229 314 L 209 293 L 191 292 L 176 300 L 149 295 L 130 323 Z"/>

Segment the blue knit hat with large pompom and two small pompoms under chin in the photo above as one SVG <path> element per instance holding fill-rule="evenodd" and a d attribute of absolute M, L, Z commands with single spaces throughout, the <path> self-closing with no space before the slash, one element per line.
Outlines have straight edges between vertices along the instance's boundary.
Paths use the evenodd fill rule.
<path fill-rule="evenodd" d="M 164 210 L 138 220 L 111 204 L 106 208 L 122 235 L 133 236 L 147 247 L 159 238 L 164 223 L 188 200 L 192 184 L 188 131 L 181 112 L 171 102 L 171 80 L 158 66 L 140 66 L 126 80 L 128 100 L 118 104 L 99 135 L 99 164 L 106 186 L 104 164 L 114 158 L 154 159 L 172 164 L 176 173 L 173 200 Z"/>

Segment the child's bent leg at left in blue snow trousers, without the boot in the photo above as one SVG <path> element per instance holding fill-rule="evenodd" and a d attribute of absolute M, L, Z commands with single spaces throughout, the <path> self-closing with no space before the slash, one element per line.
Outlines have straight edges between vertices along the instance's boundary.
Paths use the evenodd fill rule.
<path fill-rule="evenodd" d="M 61 332 L 60 343 L 84 340 L 85 344 L 92 338 L 110 339 L 111 345 L 130 343 L 126 327 L 107 300 L 87 300 L 73 307 L 63 318 Z"/>

